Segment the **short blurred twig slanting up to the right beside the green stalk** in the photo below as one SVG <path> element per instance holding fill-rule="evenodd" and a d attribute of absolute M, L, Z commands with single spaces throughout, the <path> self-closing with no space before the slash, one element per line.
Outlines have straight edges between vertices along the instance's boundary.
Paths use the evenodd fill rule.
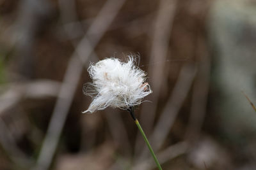
<path fill-rule="evenodd" d="M 159 117 L 159 120 L 154 128 L 152 136 L 150 136 L 150 142 L 154 150 L 159 150 L 167 138 L 173 122 L 175 121 L 182 103 L 188 95 L 189 89 L 193 83 L 196 74 L 196 67 L 191 64 L 186 64 L 180 71 L 179 78 L 173 88 L 172 94 L 169 97 L 163 113 Z M 141 157 L 147 153 L 146 148 L 141 153 Z"/>

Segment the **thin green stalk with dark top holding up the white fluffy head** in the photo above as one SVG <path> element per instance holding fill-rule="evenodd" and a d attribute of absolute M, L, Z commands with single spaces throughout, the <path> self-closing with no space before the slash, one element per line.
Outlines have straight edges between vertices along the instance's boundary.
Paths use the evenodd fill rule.
<path fill-rule="evenodd" d="M 128 111 L 131 113 L 131 117 L 133 118 L 133 120 L 134 120 L 135 124 L 137 125 L 138 129 L 140 130 L 140 132 L 141 132 L 141 134 L 142 134 L 142 136 L 143 136 L 143 139 L 145 140 L 145 143 L 147 144 L 148 149 L 149 149 L 149 151 L 150 151 L 150 153 L 151 153 L 153 159 L 154 159 L 155 162 L 156 162 L 156 165 L 157 165 L 158 169 L 159 169 L 159 170 L 162 170 L 162 167 L 161 167 L 161 165 L 159 164 L 159 162 L 158 162 L 158 160 L 157 160 L 157 157 L 156 157 L 156 155 L 155 155 L 155 153 L 154 153 L 154 151 L 153 151 L 153 149 L 152 149 L 152 147 L 151 147 L 151 145 L 150 145 L 150 143 L 149 143 L 149 141 L 148 141 L 148 138 L 147 138 L 146 134 L 144 133 L 144 131 L 143 131 L 141 125 L 140 125 L 140 122 L 138 121 L 138 119 L 137 119 L 137 118 L 135 117 L 135 115 L 134 115 L 134 109 L 133 109 L 133 107 L 129 108 Z"/>

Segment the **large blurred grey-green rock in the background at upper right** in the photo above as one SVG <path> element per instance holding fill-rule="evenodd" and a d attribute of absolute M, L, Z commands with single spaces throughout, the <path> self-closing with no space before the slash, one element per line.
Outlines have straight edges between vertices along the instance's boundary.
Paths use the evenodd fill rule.
<path fill-rule="evenodd" d="M 256 113 L 241 92 L 256 104 L 256 1 L 214 1 L 207 26 L 218 92 L 214 114 L 223 134 L 240 143 L 256 134 Z"/>

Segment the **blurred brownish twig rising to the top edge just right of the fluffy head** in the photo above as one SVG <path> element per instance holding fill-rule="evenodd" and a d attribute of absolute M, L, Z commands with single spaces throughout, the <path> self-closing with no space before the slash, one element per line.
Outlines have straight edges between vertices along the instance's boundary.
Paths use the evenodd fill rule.
<path fill-rule="evenodd" d="M 153 30 L 152 51 L 150 52 L 150 64 L 157 63 L 157 65 L 151 65 L 148 69 L 148 75 L 150 75 L 151 81 L 150 85 L 154 91 L 152 94 L 152 99 L 150 100 L 154 101 L 154 104 L 147 105 L 147 107 L 142 107 L 140 116 L 141 125 L 143 126 L 145 132 L 151 131 L 156 115 L 157 100 L 159 93 L 161 92 L 160 89 L 164 78 L 164 65 L 168 52 L 170 34 L 172 32 L 175 9 L 176 0 L 162 0 L 159 4 L 156 24 Z M 140 151 L 141 145 L 142 140 L 137 135 L 135 147 L 137 153 Z"/>

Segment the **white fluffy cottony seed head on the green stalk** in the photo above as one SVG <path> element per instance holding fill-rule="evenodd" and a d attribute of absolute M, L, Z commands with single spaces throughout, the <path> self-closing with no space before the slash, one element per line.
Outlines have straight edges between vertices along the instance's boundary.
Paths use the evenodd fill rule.
<path fill-rule="evenodd" d="M 141 104 L 143 97 L 152 93 L 145 83 L 146 73 L 135 66 L 132 56 L 127 62 L 116 58 L 100 60 L 88 68 L 92 83 L 88 83 L 84 94 L 94 96 L 88 110 L 93 113 L 108 106 L 126 109 Z"/>

